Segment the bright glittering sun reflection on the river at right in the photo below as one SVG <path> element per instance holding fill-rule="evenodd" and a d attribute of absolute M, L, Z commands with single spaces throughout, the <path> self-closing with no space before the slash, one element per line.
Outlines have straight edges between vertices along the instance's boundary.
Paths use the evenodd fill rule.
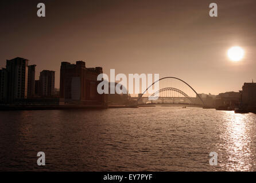
<path fill-rule="evenodd" d="M 234 114 L 234 112 L 226 112 L 223 116 L 226 118 L 226 131 L 223 133 L 226 151 L 227 164 L 223 165 L 228 171 L 246 171 L 251 169 L 248 164 L 251 158 L 251 138 L 249 116 L 247 114 Z M 245 163 L 247 162 L 247 163 Z M 220 165 L 221 166 L 221 165 Z"/>

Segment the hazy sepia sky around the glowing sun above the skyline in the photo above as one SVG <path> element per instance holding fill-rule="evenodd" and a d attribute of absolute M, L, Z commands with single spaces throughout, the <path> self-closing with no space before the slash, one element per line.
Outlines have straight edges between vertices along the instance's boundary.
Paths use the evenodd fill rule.
<path fill-rule="evenodd" d="M 37 17 L 37 3 L 46 17 Z M 210 17 L 209 5 L 218 5 Z M 62 61 L 86 62 L 103 72 L 159 73 L 178 77 L 197 93 L 238 92 L 256 81 L 256 1 L 3 1 L 0 5 L 0 67 L 24 57 L 29 65 L 55 70 Z M 232 62 L 227 50 L 241 46 Z"/>

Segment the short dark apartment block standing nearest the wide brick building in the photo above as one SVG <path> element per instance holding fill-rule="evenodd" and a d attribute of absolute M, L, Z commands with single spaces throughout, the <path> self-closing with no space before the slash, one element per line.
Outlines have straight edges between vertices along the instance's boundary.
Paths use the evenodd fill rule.
<path fill-rule="evenodd" d="M 51 97 L 55 94 L 55 71 L 42 70 L 39 77 L 39 96 Z"/>

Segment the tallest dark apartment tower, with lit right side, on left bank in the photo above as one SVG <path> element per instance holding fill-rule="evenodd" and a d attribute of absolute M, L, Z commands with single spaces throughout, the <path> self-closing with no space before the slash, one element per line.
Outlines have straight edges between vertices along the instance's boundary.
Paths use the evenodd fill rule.
<path fill-rule="evenodd" d="M 7 98 L 9 102 L 28 96 L 28 61 L 28 59 L 20 57 L 6 60 Z"/>

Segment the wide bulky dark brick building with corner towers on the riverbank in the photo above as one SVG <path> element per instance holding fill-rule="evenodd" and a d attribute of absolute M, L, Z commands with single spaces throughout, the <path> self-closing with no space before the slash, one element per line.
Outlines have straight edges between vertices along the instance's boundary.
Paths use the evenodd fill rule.
<path fill-rule="evenodd" d="M 87 68 L 86 62 L 76 64 L 61 62 L 60 98 L 65 104 L 96 104 L 104 101 L 104 95 L 97 92 L 97 77 L 102 67 Z M 95 103 L 96 102 L 96 103 Z"/>

